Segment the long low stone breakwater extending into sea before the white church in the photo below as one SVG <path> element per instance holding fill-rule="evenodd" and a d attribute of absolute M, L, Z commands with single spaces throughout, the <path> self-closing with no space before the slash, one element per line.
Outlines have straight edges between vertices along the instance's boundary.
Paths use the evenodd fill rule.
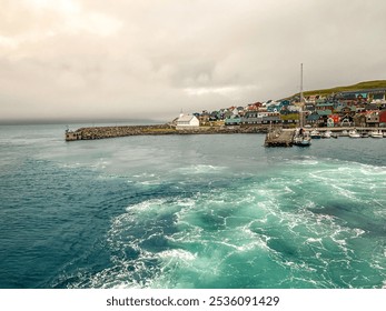
<path fill-rule="evenodd" d="M 176 129 L 170 124 L 161 126 L 126 126 L 92 127 L 67 131 L 66 140 L 92 140 L 128 136 L 165 136 L 165 134 L 222 134 L 222 133 L 266 133 L 267 126 L 256 127 L 199 127 L 194 129 Z"/>

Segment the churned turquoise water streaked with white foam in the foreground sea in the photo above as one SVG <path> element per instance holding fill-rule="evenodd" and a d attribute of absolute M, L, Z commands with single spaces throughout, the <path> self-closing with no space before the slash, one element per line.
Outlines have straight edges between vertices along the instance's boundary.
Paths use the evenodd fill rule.
<path fill-rule="evenodd" d="M 370 165 L 318 162 L 317 170 L 296 172 L 291 165 L 271 178 L 129 205 L 108 233 L 112 268 L 89 284 L 382 288 L 386 198 L 377 195 L 376 204 L 373 198 L 384 190 L 384 173 L 369 173 Z"/>

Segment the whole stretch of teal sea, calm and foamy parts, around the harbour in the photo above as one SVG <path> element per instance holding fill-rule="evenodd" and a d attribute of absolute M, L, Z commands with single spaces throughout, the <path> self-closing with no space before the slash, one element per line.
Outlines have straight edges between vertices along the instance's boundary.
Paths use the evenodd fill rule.
<path fill-rule="evenodd" d="M 0 288 L 386 287 L 386 139 L 0 127 Z"/>

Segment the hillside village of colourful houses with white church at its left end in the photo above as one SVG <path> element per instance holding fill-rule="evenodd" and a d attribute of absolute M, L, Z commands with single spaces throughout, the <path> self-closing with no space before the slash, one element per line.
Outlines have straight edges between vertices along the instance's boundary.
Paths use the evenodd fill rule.
<path fill-rule="evenodd" d="M 218 111 L 202 111 L 192 114 L 181 113 L 171 124 L 176 129 L 198 127 L 257 127 L 280 126 L 296 128 L 385 128 L 386 88 L 345 91 L 327 97 L 313 94 L 284 100 L 268 100 L 246 106 L 222 108 Z M 301 116 L 301 117 L 300 117 Z M 300 120 L 303 118 L 303 120 Z"/>

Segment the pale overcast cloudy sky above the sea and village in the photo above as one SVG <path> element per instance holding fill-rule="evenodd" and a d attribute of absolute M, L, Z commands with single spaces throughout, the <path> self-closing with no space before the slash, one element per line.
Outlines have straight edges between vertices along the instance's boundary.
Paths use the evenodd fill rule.
<path fill-rule="evenodd" d="M 0 122 L 154 119 L 386 79 L 385 0 L 0 0 Z"/>

